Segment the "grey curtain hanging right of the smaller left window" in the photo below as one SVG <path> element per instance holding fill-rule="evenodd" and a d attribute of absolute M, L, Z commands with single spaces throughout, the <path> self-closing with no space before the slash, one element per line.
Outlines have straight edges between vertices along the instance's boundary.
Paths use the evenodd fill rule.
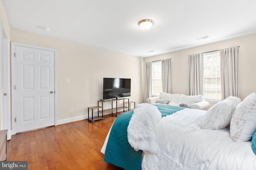
<path fill-rule="evenodd" d="M 162 91 L 172 93 L 171 59 L 164 59 L 162 62 Z"/>

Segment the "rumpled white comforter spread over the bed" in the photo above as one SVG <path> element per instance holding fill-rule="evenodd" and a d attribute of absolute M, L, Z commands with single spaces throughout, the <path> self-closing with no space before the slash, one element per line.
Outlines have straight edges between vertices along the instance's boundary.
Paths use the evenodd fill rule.
<path fill-rule="evenodd" d="M 142 169 L 256 170 L 251 141 L 235 143 L 229 129 L 200 129 L 206 111 L 183 109 L 163 117 L 158 126 L 159 149 L 144 152 Z"/>

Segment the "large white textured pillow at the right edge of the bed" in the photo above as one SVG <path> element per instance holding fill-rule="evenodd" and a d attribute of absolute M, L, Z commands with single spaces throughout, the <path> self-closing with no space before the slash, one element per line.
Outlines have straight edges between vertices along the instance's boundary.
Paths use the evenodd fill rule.
<path fill-rule="evenodd" d="M 234 142 L 249 141 L 256 131 L 256 93 L 247 96 L 234 111 L 230 136 Z"/>

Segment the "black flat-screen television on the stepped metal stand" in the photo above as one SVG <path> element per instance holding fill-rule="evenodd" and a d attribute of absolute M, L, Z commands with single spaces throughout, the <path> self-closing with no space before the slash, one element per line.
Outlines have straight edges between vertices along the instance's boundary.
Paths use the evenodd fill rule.
<path fill-rule="evenodd" d="M 103 99 L 131 96 L 130 78 L 103 78 Z"/>

